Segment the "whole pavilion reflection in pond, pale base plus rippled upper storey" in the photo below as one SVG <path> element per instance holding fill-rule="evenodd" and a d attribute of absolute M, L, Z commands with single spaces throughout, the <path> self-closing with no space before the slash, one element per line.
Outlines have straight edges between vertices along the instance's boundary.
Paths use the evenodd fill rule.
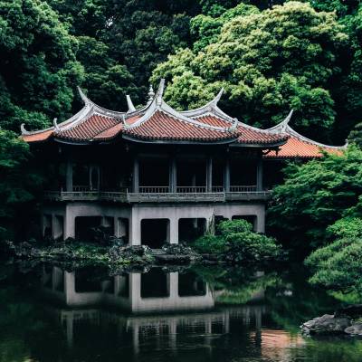
<path fill-rule="evenodd" d="M 265 307 L 214 308 L 214 292 L 192 273 L 153 270 L 98 281 L 87 275 L 57 267 L 43 271 L 43 291 L 73 309 L 59 310 L 69 346 L 76 344 L 84 326 L 87 329 L 96 326 L 96 333 L 112 326 L 119 341 L 124 343 L 129 339 L 134 353 L 139 352 L 148 338 L 156 338 L 162 345 L 159 348 L 176 350 L 181 343 L 179 339 L 191 335 L 202 339 L 197 341 L 199 346 L 211 350 L 214 338 L 230 332 L 231 319 L 253 326 L 257 331 L 255 343 L 260 344 Z M 257 297 L 260 299 L 260 294 Z M 96 309 L 97 306 L 117 307 L 130 311 L 131 315 Z"/>

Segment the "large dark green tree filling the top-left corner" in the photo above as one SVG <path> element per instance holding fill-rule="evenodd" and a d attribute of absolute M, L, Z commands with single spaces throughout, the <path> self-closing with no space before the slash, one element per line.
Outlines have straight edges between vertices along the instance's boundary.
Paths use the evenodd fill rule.
<path fill-rule="evenodd" d="M 38 129 L 64 118 L 82 74 L 74 37 L 41 0 L 1 0 L 0 26 L 0 125 Z"/>

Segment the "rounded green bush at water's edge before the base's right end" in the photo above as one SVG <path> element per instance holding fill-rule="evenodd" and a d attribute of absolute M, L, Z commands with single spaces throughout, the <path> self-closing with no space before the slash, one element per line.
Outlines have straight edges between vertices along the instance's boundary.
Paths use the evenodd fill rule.
<path fill-rule="evenodd" d="M 281 257 L 281 246 L 275 239 L 252 232 L 252 224 L 245 220 L 223 221 L 217 229 L 219 234 L 195 241 L 198 252 L 218 254 L 226 262 L 262 262 Z"/>

